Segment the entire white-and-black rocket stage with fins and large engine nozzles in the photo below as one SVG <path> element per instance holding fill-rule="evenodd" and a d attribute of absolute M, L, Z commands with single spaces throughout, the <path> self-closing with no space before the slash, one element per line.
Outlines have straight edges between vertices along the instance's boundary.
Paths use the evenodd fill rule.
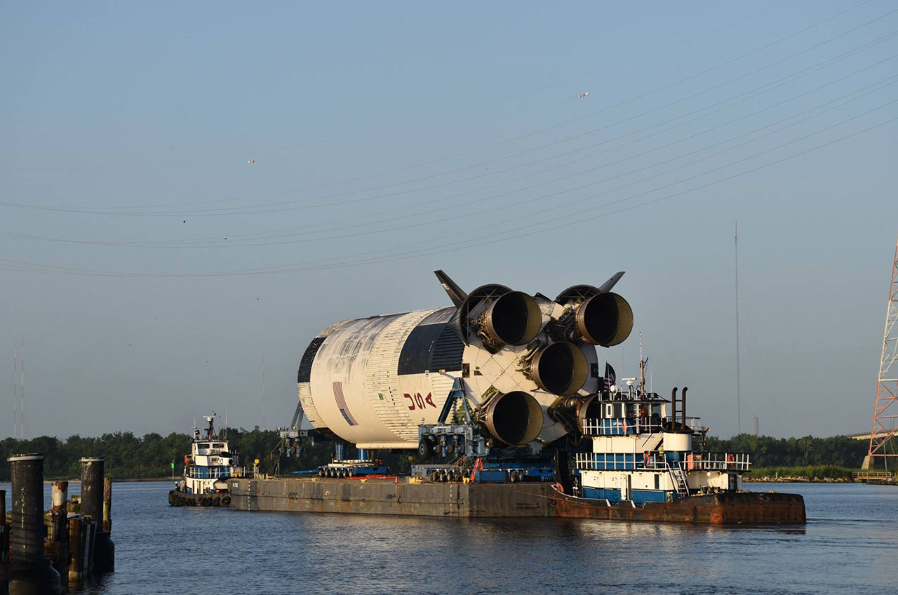
<path fill-rule="evenodd" d="M 595 345 L 632 330 L 629 304 L 611 291 L 622 275 L 550 300 L 502 285 L 466 294 L 436 271 L 454 306 L 331 325 L 300 362 L 300 404 L 317 430 L 358 448 L 414 449 L 460 377 L 496 444 L 558 440 L 599 388 Z"/>

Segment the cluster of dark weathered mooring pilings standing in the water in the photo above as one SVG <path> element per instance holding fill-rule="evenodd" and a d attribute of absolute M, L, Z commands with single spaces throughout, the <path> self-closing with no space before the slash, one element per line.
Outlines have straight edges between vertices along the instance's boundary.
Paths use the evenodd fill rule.
<path fill-rule="evenodd" d="M 12 506 L 0 490 L 0 595 L 55 595 L 80 588 L 87 577 L 114 569 L 110 539 L 111 483 L 104 459 L 81 459 L 82 495 L 68 498 L 68 482 L 53 482 L 44 511 L 44 456 L 13 455 Z"/>

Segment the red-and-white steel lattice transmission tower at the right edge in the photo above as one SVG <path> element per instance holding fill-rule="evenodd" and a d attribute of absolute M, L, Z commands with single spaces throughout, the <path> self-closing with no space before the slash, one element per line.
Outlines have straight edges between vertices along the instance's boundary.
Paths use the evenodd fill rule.
<path fill-rule="evenodd" d="M 876 381 L 876 404 L 873 407 L 873 427 L 870 430 L 870 450 L 864 460 L 864 468 L 876 467 L 876 459 L 882 457 L 883 466 L 889 468 L 889 459 L 898 459 L 895 434 L 898 432 L 898 243 L 892 262 L 892 282 L 889 284 L 889 301 L 885 306 L 885 331 L 883 351 L 879 360 L 879 377 Z"/>

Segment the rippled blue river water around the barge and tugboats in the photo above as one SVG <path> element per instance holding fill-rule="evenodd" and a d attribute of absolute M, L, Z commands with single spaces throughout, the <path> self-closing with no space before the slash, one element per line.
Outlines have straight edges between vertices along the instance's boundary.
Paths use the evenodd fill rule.
<path fill-rule="evenodd" d="M 116 572 L 82 592 L 898 592 L 898 487 L 750 485 L 804 495 L 806 527 L 202 510 L 117 483 Z"/>

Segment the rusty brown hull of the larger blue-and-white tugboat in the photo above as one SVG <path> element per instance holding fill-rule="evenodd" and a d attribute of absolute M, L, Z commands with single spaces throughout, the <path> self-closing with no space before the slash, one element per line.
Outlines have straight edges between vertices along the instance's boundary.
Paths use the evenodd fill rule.
<path fill-rule="evenodd" d="M 590 500 L 554 492 L 559 517 L 601 520 L 646 520 L 697 525 L 803 525 L 805 499 L 796 493 L 734 492 L 690 496 L 674 502 L 634 506 Z"/>

